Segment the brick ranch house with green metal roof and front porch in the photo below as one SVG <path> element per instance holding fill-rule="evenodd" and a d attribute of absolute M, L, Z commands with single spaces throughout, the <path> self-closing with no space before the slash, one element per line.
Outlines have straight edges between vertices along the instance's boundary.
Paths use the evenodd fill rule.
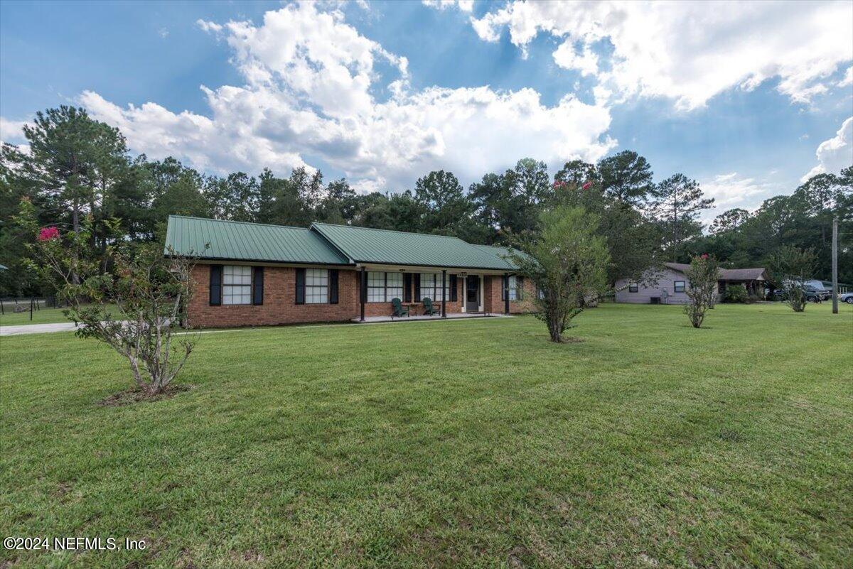
<path fill-rule="evenodd" d="M 165 255 L 194 256 L 191 326 L 363 321 L 412 314 L 523 313 L 529 279 L 501 247 L 455 237 L 313 223 L 309 228 L 169 216 Z"/>

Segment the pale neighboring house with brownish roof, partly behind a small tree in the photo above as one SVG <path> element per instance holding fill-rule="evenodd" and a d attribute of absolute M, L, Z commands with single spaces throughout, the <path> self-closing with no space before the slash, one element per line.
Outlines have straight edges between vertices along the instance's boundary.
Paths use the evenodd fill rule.
<path fill-rule="evenodd" d="M 690 265 L 683 263 L 664 262 L 664 267 L 656 273 L 657 285 L 644 286 L 620 279 L 616 283 L 616 302 L 684 304 L 689 300 L 688 268 Z M 726 287 L 732 284 L 743 284 L 749 294 L 763 298 L 767 281 L 767 271 L 763 268 L 722 268 L 717 280 L 717 300 L 722 300 Z"/>

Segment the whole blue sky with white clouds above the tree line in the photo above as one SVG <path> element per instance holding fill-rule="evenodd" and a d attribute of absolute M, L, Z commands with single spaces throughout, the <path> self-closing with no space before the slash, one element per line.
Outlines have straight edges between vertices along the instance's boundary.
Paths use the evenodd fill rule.
<path fill-rule="evenodd" d="M 0 135 L 83 105 L 152 158 L 364 191 L 630 148 L 755 207 L 853 162 L 853 3 L 727 8 L 0 3 Z"/>

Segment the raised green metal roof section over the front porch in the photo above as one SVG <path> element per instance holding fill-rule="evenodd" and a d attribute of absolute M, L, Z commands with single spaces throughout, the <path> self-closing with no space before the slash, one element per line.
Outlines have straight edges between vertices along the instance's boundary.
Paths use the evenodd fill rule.
<path fill-rule="evenodd" d="M 499 271 L 515 268 L 502 258 L 506 250 L 469 244 L 456 237 L 328 223 L 314 223 L 311 229 L 355 262 Z"/>

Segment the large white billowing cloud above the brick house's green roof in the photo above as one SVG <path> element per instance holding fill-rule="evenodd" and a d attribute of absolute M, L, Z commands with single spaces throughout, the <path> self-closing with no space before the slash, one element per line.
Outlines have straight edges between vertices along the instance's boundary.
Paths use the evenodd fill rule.
<path fill-rule="evenodd" d="M 81 104 L 152 158 L 281 173 L 319 158 L 363 190 L 410 187 L 439 168 L 473 181 L 525 156 L 554 167 L 569 158 L 595 161 L 616 144 L 606 136 L 608 109 L 573 95 L 548 106 L 533 89 L 412 89 L 404 57 L 321 4 L 267 12 L 259 25 L 199 26 L 229 44 L 244 81 L 201 86 L 207 116 L 154 102 L 119 106 L 91 91 Z"/>

